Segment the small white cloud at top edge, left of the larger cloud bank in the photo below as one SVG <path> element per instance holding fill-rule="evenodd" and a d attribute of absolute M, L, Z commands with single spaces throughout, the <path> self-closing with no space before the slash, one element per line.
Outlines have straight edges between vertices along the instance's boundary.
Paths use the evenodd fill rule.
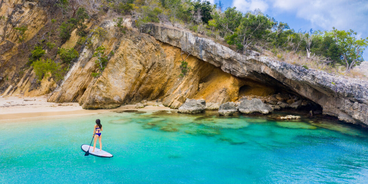
<path fill-rule="evenodd" d="M 263 0 L 234 0 L 232 6 L 243 12 L 253 11 L 256 8 L 264 12 L 268 9 L 268 4 Z"/>

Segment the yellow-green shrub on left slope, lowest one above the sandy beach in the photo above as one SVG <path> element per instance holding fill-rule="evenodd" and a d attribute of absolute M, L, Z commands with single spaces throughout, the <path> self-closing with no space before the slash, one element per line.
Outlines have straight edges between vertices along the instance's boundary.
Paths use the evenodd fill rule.
<path fill-rule="evenodd" d="M 55 81 L 59 81 L 63 78 L 63 72 L 65 71 L 61 69 L 60 65 L 51 59 L 36 60 L 32 63 L 32 67 L 35 71 L 38 81 L 40 81 L 43 77 L 48 77 L 50 73 Z"/>

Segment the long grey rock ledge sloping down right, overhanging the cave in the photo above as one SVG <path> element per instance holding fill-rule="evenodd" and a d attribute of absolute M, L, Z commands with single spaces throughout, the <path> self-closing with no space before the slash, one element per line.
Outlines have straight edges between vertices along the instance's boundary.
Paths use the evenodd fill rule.
<path fill-rule="evenodd" d="M 243 56 L 210 39 L 156 24 L 147 24 L 141 31 L 239 78 L 251 78 L 265 84 L 278 83 L 321 105 L 324 114 L 368 126 L 367 81 L 307 70 L 265 56 Z"/>

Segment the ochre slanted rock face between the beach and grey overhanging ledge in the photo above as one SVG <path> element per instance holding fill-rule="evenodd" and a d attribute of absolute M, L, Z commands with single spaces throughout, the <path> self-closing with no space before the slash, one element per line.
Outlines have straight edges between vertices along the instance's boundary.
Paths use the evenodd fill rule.
<path fill-rule="evenodd" d="M 84 47 L 63 84 L 48 99 L 50 102 L 79 102 L 84 109 L 113 109 L 158 99 L 164 106 L 177 109 L 186 98 L 203 98 L 215 104 L 237 100 L 243 80 L 194 56 L 186 60 L 192 69 L 180 77 L 180 48 L 144 33 L 121 34 L 113 21 L 100 26 L 109 32 L 108 37 L 99 40 L 92 35 L 92 47 Z M 94 78 L 91 73 L 97 67 L 92 55 L 100 45 L 107 48 L 105 53 L 113 51 L 114 55 L 109 56 L 102 75 Z"/>

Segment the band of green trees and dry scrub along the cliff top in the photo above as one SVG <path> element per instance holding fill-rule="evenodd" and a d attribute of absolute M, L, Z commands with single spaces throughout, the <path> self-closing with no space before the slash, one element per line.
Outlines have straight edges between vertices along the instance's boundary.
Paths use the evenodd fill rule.
<path fill-rule="evenodd" d="M 354 74 L 351 71 L 363 61 L 362 53 L 368 45 L 368 38 L 357 39 L 357 33 L 352 30 L 295 31 L 259 9 L 243 13 L 236 7 L 224 9 L 221 1 L 211 4 L 199 0 L 96 0 L 92 3 L 46 0 L 41 4 L 55 7 L 52 11 L 61 11 L 63 22 L 59 33 L 62 42 L 77 29 L 79 45 L 88 40 L 85 20 L 100 15 L 117 17 L 114 21 L 123 33 L 124 15 L 131 15 L 138 28 L 147 22 L 165 24 L 170 21 L 173 26 L 190 29 L 244 55 L 255 50 L 304 68 L 344 75 Z M 92 32 L 96 37 L 106 34 L 102 28 Z"/>

